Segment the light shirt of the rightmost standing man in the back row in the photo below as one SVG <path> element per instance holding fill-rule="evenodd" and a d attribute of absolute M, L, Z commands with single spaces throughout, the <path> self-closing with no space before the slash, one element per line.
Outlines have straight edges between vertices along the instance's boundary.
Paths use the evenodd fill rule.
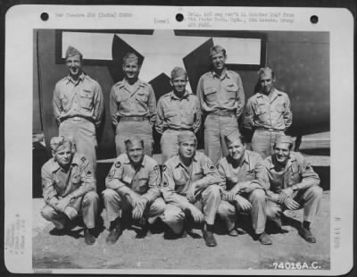
<path fill-rule="evenodd" d="M 293 122 L 289 97 L 273 88 L 272 97 L 258 92 L 248 99 L 244 126 L 247 129 L 266 128 L 286 130 Z"/>

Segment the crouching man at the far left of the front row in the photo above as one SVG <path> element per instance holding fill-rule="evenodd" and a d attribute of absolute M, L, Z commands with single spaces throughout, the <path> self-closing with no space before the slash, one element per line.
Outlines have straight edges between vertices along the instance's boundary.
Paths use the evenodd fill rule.
<path fill-rule="evenodd" d="M 54 157 L 43 165 L 41 172 L 46 202 L 41 214 L 63 233 L 68 231 L 68 220 L 81 214 L 85 241 L 94 244 L 99 197 L 95 192 L 92 163 L 86 156 L 75 153 L 71 140 L 65 137 L 52 138 L 51 148 Z"/>

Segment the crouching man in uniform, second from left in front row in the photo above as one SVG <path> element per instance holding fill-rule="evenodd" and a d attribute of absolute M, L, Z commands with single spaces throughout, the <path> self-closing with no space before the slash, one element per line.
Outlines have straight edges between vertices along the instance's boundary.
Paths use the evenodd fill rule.
<path fill-rule="evenodd" d="M 148 224 L 163 213 L 165 202 L 160 197 L 160 168 L 144 154 L 144 141 L 137 136 L 125 140 L 127 153 L 119 155 L 105 180 L 104 206 L 110 225 L 107 243 L 120 237 L 120 218 L 123 211 L 131 211 L 132 218 L 143 227 L 138 237 L 144 237 Z"/>

